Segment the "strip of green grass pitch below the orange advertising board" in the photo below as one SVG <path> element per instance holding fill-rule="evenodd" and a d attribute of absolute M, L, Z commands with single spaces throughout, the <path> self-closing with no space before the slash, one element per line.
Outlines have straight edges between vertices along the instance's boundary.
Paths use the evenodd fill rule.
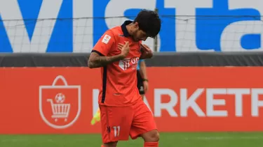
<path fill-rule="evenodd" d="M 263 132 L 161 133 L 160 147 L 263 147 Z M 0 135 L 0 147 L 100 147 L 100 134 Z M 143 147 L 142 139 L 119 146 Z"/>

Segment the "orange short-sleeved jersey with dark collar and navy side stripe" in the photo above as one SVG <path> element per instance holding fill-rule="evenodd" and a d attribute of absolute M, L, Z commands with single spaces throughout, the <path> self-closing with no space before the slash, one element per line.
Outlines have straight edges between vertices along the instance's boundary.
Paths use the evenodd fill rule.
<path fill-rule="evenodd" d="M 92 52 L 100 56 L 115 56 L 121 54 L 118 43 L 130 42 L 130 52 L 125 59 L 110 63 L 101 68 L 102 87 L 100 88 L 99 104 L 123 107 L 133 105 L 140 100 L 140 93 L 137 89 L 137 63 L 140 59 L 140 42 L 135 42 L 126 29 L 131 21 L 124 22 L 107 30 Z"/>

